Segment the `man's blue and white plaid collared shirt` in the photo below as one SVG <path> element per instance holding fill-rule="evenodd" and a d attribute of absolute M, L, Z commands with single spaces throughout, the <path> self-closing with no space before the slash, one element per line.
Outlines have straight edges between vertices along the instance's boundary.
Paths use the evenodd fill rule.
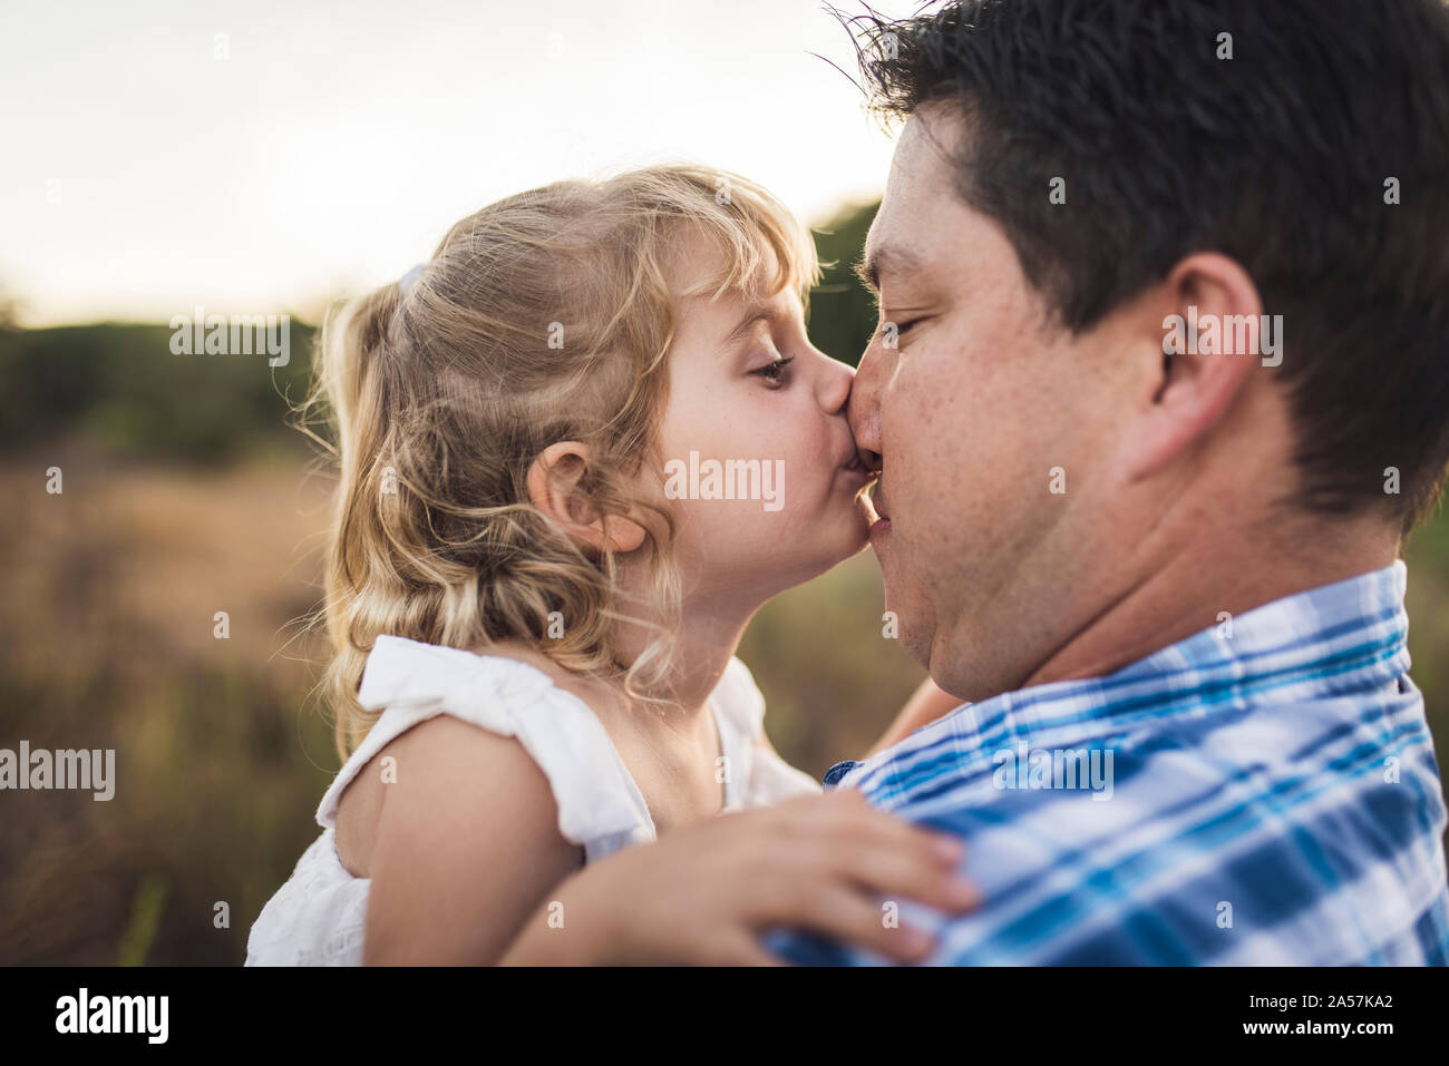
<path fill-rule="evenodd" d="M 1445 801 L 1403 562 L 1110 676 L 966 704 L 827 786 L 966 843 L 935 965 L 1445 965 Z M 814 965 L 878 965 L 794 931 Z"/>

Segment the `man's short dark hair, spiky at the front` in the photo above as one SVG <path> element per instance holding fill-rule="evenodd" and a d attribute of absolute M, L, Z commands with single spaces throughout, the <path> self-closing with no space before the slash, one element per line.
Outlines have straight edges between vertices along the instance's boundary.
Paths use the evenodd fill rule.
<path fill-rule="evenodd" d="M 867 10 L 843 20 L 872 107 L 959 109 L 959 194 L 1001 226 L 1062 326 L 1091 327 L 1195 251 L 1229 255 L 1284 316 L 1274 372 L 1291 390 L 1298 503 L 1387 508 L 1406 532 L 1433 508 L 1449 465 L 1442 3 Z M 1066 206 L 1049 203 L 1056 177 Z"/>

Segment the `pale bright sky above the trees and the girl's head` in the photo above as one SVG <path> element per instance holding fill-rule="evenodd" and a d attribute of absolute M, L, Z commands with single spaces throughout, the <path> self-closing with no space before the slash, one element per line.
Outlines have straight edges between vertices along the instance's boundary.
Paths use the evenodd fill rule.
<path fill-rule="evenodd" d="M 306 313 L 491 200 L 648 162 L 820 223 L 880 196 L 891 139 L 810 52 L 855 71 L 822 0 L 4 0 L 0 298 Z"/>

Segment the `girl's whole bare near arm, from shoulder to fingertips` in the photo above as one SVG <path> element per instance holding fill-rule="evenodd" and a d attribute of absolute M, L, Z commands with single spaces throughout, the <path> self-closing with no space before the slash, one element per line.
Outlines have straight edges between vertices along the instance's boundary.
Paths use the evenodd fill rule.
<path fill-rule="evenodd" d="M 397 759 L 369 863 L 364 963 L 752 962 L 797 926 L 913 962 L 929 941 L 881 899 L 959 912 L 959 842 L 874 810 L 853 789 L 675 830 L 580 870 L 548 779 L 523 747 L 439 715 Z M 571 876 L 572 875 L 572 876 Z"/>

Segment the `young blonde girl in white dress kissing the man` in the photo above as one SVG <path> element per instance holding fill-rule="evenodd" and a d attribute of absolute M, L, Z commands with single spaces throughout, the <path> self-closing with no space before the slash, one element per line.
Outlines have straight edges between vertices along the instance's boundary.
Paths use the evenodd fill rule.
<path fill-rule="evenodd" d="M 880 897 L 971 904 L 953 843 L 775 755 L 735 658 L 865 545 L 816 278 L 764 190 L 658 167 L 484 207 L 326 323 L 345 765 L 248 965 L 761 962 L 772 924 L 911 959 Z"/>

